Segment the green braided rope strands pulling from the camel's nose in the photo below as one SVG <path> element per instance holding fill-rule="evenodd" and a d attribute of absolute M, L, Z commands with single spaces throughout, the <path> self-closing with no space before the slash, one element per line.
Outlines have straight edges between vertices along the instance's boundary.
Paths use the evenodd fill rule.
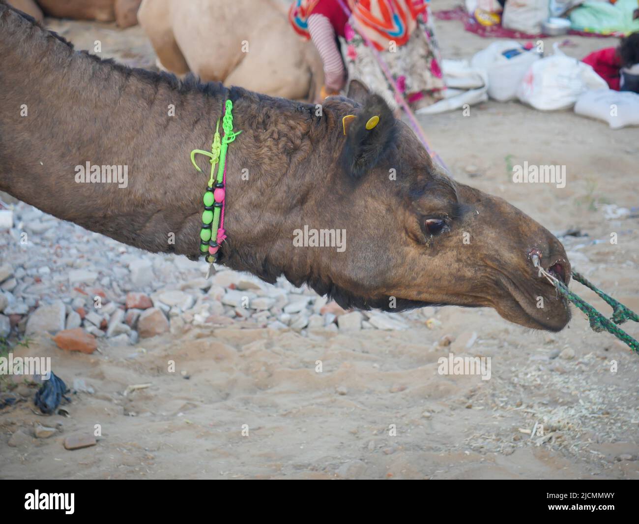
<path fill-rule="evenodd" d="M 632 320 L 635 322 L 639 322 L 639 317 L 637 317 L 636 313 L 629 310 L 626 306 L 620 304 L 615 299 L 606 295 L 600 289 L 597 289 L 592 283 L 588 282 L 581 274 L 573 272 L 573 278 L 577 282 L 589 287 L 597 295 L 599 295 L 608 305 L 613 308 L 614 314 L 612 316 L 612 322 L 606 317 L 604 317 L 601 313 L 599 313 L 593 306 L 587 303 L 584 299 L 574 294 L 571 290 L 568 289 L 566 284 L 555 280 L 555 288 L 557 291 L 562 294 L 562 296 L 566 297 L 567 300 L 571 301 L 575 306 L 577 306 L 581 311 L 583 311 L 586 315 L 588 315 L 588 319 L 590 321 L 590 329 L 592 331 L 596 331 L 597 333 L 601 331 L 608 331 L 608 333 L 612 333 L 615 337 L 619 338 L 622 342 L 627 344 L 633 351 L 639 353 L 639 342 L 635 340 L 635 338 L 631 337 L 621 328 L 615 326 L 615 324 L 622 324 L 627 320 Z M 614 324 L 613 324 L 614 322 Z"/>

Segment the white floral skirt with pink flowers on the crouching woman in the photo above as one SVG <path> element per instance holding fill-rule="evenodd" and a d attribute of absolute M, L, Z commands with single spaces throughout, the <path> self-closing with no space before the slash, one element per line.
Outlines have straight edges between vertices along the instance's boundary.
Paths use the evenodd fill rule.
<path fill-rule="evenodd" d="M 430 19 L 430 17 L 429 17 Z M 346 39 L 341 38 L 341 49 L 349 79 L 364 83 L 371 91 L 384 97 L 392 109 L 399 105 L 395 91 L 386 79 L 373 50 L 350 24 L 346 26 Z M 439 51 L 433 26 L 417 17 L 417 28 L 408 42 L 401 47 L 380 51 L 399 91 L 412 106 L 423 107 L 443 98 L 445 84 L 440 69 Z"/>

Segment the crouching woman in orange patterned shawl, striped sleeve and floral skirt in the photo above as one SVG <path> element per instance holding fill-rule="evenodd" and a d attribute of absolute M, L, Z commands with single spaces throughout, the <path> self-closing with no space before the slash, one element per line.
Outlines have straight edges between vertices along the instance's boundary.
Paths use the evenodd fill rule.
<path fill-rule="evenodd" d="M 443 96 L 445 84 L 426 0 L 294 0 L 289 21 L 318 49 L 324 65 L 324 96 L 339 93 L 348 76 L 396 109 L 393 87 L 374 51 L 413 107 Z"/>

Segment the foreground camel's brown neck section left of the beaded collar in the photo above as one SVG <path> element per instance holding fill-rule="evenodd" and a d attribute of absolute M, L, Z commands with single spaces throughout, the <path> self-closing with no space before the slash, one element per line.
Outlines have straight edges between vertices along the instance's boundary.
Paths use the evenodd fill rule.
<path fill-rule="evenodd" d="M 197 250 L 210 143 L 226 89 L 77 52 L 0 4 L 0 189 L 149 251 Z M 204 166 L 202 166 L 204 168 Z"/>

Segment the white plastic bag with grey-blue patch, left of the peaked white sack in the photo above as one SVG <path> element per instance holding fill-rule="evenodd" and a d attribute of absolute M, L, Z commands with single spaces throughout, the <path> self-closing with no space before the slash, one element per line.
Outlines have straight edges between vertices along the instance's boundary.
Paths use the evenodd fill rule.
<path fill-rule="evenodd" d="M 488 96 L 499 102 L 517 98 L 517 89 L 530 65 L 541 56 L 527 51 L 515 40 L 493 42 L 475 53 L 470 61 L 473 68 L 486 72 Z"/>

